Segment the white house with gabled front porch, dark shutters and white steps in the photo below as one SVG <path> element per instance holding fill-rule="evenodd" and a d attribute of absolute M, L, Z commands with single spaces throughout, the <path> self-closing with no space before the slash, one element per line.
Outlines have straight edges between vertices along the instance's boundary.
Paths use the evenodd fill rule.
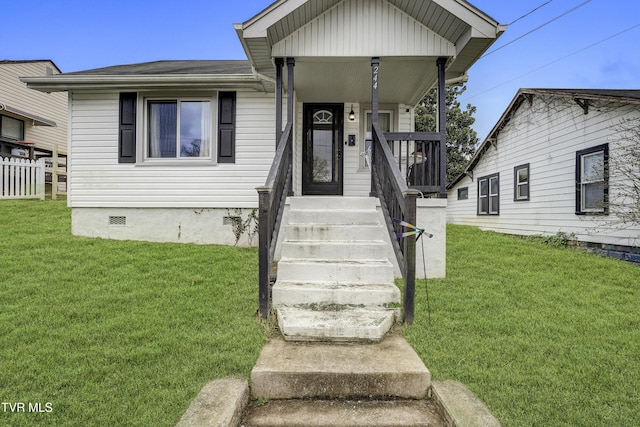
<path fill-rule="evenodd" d="M 465 78 L 504 27 L 464 0 L 277 0 L 235 30 L 246 61 L 23 78 L 69 93 L 73 233 L 229 244 L 228 217 L 258 209 L 263 316 L 285 238 L 279 310 L 360 306 L 383 281 L 386 294 L 371 304 L 388 320 L 385 304 L 399 295 L 393 270 L 409 288 L 416 270 L 415 237 L 403 233 L 417 225 L 433 234 L 428 274 L 445 274 L 444 87 Z M 417 134 L 414 106 L 434 86 L 439 132 Z M 435 198 L 416 202 L 422 195 Z M 294 302 L 301 284 L 312 289 Z M 405 295 L 412 310 L 412 291 Z"/>

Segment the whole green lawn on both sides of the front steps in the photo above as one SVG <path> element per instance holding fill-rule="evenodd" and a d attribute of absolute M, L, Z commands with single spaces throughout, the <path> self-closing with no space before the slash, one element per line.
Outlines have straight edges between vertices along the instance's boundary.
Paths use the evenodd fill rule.
<path fill-rule="evenodd" d="M 0 401 L 45 411 L 0 405 L 0 425 L 173 426 L 209 380 L 248 378 L 255 249 L 73 237 L 65 201 L 0 201 L 0 218 Z M 434 379 L 505 427 L 640 425 L 640 267 L 448 233 L 431 321 L 420 282 L 405 330 Z"/>

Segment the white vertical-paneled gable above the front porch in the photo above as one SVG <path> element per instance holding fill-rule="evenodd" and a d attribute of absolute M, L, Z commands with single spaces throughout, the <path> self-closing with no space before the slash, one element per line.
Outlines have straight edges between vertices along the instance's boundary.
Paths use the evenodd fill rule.
<path fill-rule="evenodd" d="M 454 56 L 455 45 L 385 0 L 346 0 L 275 43 L 273 56 Z"/>

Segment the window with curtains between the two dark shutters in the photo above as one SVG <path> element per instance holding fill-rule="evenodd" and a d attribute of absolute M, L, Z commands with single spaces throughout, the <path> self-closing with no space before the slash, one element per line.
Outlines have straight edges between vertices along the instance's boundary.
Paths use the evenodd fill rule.
<path fill-rule="evenodd" d="M 211 103 L 149 101 L 147 158 L 211 158 Z"/>

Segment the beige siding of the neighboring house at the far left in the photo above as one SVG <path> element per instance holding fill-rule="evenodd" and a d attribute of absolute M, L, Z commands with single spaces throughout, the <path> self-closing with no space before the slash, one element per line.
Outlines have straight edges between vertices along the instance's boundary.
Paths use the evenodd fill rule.
<path fill-rule="evenodd" d="M 58 146 L 61 154 L 67 152 L 67 94 L 64 92 L 43 93 L 27 89 L 20 77 L 46 75 L 47 67 L 58 73 L 49 61 L 25 61 L 0 64 L 0 103 L 24 112 L 53 120 L 56 127 L 31 126 L 25 121 L 25 141 L 34 142 L 36 147 L 53 150 Z M 0 111 L 0 114 L 3 114 Z M 7 114 L 9 115 L 9 114 Z"/>

